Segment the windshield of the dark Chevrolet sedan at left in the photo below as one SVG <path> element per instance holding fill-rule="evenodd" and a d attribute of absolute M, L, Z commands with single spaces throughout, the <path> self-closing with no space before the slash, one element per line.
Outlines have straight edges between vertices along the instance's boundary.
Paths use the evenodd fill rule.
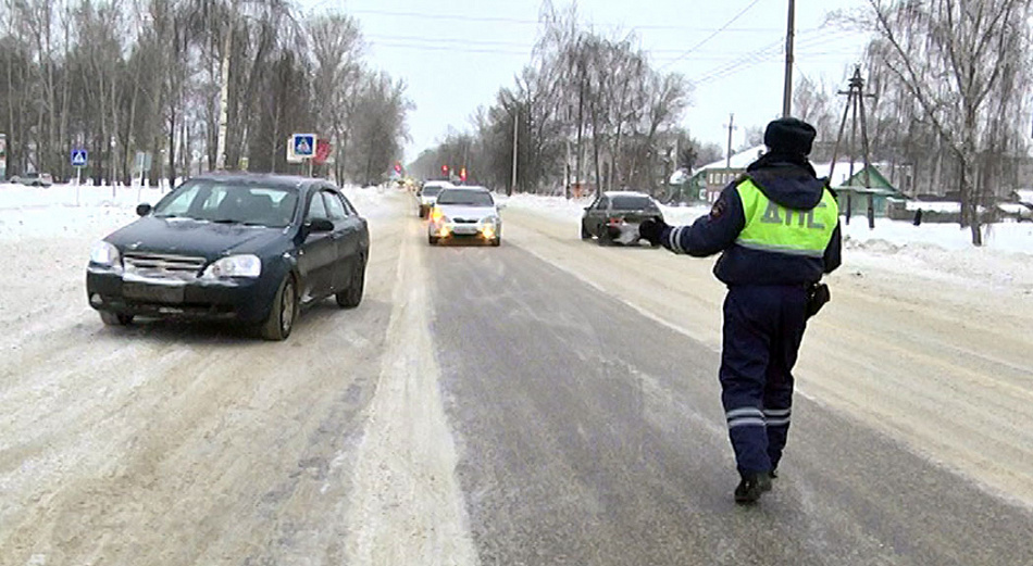
<path fill-rule="evenodd" d="M 297 204 L 298 192 L 291 188 L 198 180 L 162 199 L 154 216 L 282 228 L 290 224 Z"/>

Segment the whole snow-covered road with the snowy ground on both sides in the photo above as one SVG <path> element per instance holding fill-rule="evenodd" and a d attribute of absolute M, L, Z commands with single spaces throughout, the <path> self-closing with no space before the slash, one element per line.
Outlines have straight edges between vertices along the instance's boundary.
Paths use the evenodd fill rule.
<path fill-rule="evenodd" d="M 283 343 L 113 329 L 84 264 L 136 189 L 60 190 L 0 194 L 0 565 L 1033 563 L 1008 252 L 985 261 L 1021 276 L 985 281 L 849 250 L 783 478 L 743 514 L 710 261 L 583 242 L 534 199 L 500 249 L 428 249 L 407 194 L 349 189 L 360 309 L 316 305 Z"/>

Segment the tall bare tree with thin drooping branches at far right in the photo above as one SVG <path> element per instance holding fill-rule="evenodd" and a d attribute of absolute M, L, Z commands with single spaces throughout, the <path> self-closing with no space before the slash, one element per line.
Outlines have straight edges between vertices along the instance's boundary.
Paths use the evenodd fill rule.
<path fill-rule="evenodd" d="M 1030 0 L 869 0 L 873 53 L 920 106 L 959 164 L 962 225 L 983 235 L 981 155 L 1001 147 L 999 109 L 1029 86 Z"/>

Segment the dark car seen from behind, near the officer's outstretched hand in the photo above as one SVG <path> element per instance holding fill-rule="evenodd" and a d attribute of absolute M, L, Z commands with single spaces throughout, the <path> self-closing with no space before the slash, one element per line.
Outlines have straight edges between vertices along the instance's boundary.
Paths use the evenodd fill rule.
<path fill-rule="evenodd" d="M 581 218 L 581 239 L 598 238 L 599 246 L 609 246 L 621 235 L 632 232 L 630 243 L 638 243 L 638 225 L 646 218 L 662 221 L 657 201 L 646 193 L 608 191 L 585 207 Z"/>

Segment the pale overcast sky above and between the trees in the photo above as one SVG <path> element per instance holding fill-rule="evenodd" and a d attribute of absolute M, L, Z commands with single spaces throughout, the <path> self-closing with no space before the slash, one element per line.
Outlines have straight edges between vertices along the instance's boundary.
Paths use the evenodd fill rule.
<path fill-rule="evenodd" d="M 866 37 L 823 23 L 832 10 L 864 4 L 797 1 L 796 76 L 835 84 L 845 79 Z M 491 103 L 500 86 L 513 85 L 514 74 L 531 61 L 542 4 L 306 0 L 304 5 L 357 17 L 368 61 L 406 80 L 416 106 L 406 147 L 406 160 L 411 161 L 443 139 L 449 127 L 468 129 L 478 105 Z M 696 84 L 683 125 L 697 138 L 724 147 L 724 126 L 734 113 L 735 124 L 743 126 L 733 133 L 733 146 L 738 146 L 746 126 L 762 126 L 781 114 L 787 0 L 581 0 L 577 5 L 583 21 L 600 32 L 634 29 L 655 66 L 683 73 Z"/>

